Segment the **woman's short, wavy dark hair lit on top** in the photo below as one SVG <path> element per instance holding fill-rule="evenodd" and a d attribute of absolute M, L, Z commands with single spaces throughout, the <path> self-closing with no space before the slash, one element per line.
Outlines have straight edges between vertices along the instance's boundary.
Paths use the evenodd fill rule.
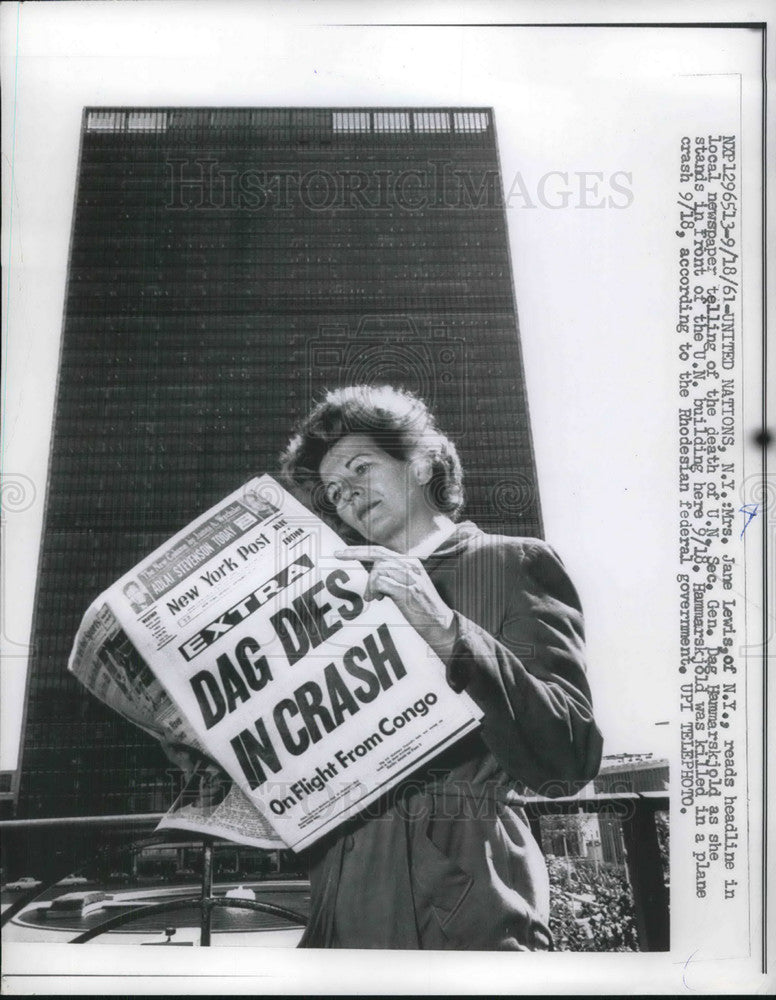
<path fill-rule="evenodd" d="M 367 434 L 392 458 L 428 459 L 430 505 L 453 520 L 459 517 L 463 470 L 455 445 L 439 430 L 422 399 L 389 385 L 333 389 L 297 427 L 280 457 L 281 476 L 289 487 L 307 495 L 314 510 L 339 520 L 326 500 L 318 470 L 324 455 L 348 434 Z"/>

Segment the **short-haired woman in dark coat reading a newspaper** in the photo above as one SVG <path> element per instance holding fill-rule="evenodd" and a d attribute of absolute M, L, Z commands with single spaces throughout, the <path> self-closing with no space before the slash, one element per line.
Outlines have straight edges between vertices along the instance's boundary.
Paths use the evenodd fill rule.
<path fill-rule="evenodd" d="M 310 849 L 302 947 L 542 950 L 549 884 L 521 806 L 597 773 L 601 736 L 582 612 L 535 538 L 458 522 L 462 472 L 424 403 L 389 387 L 330 392 L 282 457 L 483 711 L 480 729 Z M 422 669 L 422 664 L 418 665 Z"/>

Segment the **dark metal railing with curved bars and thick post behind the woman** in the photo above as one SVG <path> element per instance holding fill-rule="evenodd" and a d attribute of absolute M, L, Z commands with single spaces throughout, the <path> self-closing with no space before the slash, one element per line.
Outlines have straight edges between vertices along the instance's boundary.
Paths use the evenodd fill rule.
<path fill-rule="evenodd" d="M 618 793 L 609 795 L 590 795 L 585 798 L 568 796 L 555 799 L 529 798 L 525 802 L 526 814 L 531 824 L 537 843 L 541 844 L 541 818 L 543 816 L 570 815 L 578 813 L 595 813 L 598 815 L 615 816 L 622 825 L 625 849 L 625 864 L 628 880 L 633 893 L 636 930 L 639 949 L 641 951 L 667 951 L 670 945 L 669 893 L 663 878 L 663 865 L 660 855 L 660 845 L 656 823 L 656 813 L 669 809 L 668 794 L 665 792 Z M 99 826 L 107 831 L 115 830 L 121 834 L 137 834 L 140 830 L 154 826 L 161 814 L 141 816 L 102 816 L 67 819 L 34 819 L 8 820 L 0 823 L 0 833 L 14 829 L 29 830 L 36 827 L 88 827 Z M 180 834 L 177 834 L 180 837 Z M 133 840 L 120 847 L 109 845 L 100 851 L 106 856 L 117 853 L 137 851 L 147 846 L 165 844 L 167 836 L 155 836 L 140 841 Z M 278 906 L 274 903 L 259 900 L 226 898 L 213 894 L 213 840 L 201 840 L 202 845 L 202 877 L 200 891 L 197 895 L 185 896 L 180 899 L 161 903 L 138 905 L 129 913 L 123 913 L 102 921 L 98 925 L 78 934 L 72 939 L 72 944 L 84 944 L 108 932 L 124 927 L 132 921 L 149 914 L 161 914 L 181 909 L 198 910 L 200 945 L 208 947 L 211 944 L 213 911 L 218 907 L 229 906 L 245 910 L 254 910 L 271 914 L 282 920 L 287 920 L 297 926 L 304 926 L 307 918 L 294 910 Z M 90 858 L 80 870 L 94 862 Z M 63 872 L 45 884 L 25 893 L 9 906 L 2 914 L 2 924 L 7 923 L 17 913 L 28 906 L 38 896 L 53 888 L 66 874 L 72 872 L 69 864 L 68 872 Z"/>

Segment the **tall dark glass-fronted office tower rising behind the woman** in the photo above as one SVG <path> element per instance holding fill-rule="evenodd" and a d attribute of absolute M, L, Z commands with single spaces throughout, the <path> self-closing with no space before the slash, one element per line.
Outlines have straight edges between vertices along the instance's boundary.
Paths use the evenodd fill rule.
<path fill-rule="evenodd" d="M 165 809 L 66 671 L 92 599 L 256 473 L 323 387 L 420 392 L 466 515 L 541 532 L 487 109 L 87 109 L 17 815 Z"/>

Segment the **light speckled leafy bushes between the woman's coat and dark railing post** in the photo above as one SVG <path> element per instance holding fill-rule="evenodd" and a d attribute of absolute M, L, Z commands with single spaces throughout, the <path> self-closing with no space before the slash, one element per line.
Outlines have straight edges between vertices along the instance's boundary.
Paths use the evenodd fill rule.
<path fill-rule="evenodd" d="M 550 929 L 558 951 L 638 951 L 624 866 L 547 858 Z"/>

